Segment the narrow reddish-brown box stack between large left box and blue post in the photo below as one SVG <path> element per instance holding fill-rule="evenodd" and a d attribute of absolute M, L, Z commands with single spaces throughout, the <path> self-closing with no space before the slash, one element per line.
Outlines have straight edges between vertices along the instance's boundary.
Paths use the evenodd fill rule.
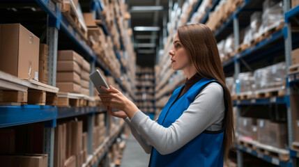
<path fill-rule="evenodd" d="M 38 80 L 43 84 L 48 84 L 48 61 L 49 61 L 49 47 L 45 44 L 40 44 L 40 57 L 38 65 Z"/>

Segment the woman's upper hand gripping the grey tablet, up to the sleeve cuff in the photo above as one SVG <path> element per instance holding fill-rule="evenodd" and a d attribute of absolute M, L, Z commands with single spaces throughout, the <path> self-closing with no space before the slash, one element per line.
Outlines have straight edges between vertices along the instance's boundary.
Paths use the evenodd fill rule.
<path fill-rule="evenodd" d="M 110 109 L 107 110 L 108 112 L 111 112 L 111 108 L 116 108 L 124 111 L 126 116 L 131 119 L 139 110 L 133 102 L 128 100 L 128 98 L 116 88 L 113 88 L 112 86 L 109 86 L 109 88 L 100 86 L 100 89 L 102 89 L 102 93 L 99 94 L 99 97 L 104 106 L 110 107 Z"/>

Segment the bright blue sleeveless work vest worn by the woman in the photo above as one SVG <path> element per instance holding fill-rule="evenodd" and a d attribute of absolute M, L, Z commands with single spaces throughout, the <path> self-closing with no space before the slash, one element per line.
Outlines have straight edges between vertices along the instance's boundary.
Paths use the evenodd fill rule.
<path fill-rule="evenodd" d="M 171 95 L 167 104 L 164 106 L 164 109 L 160 113 L 160 116 L 158 118 L 158 124 L 162 125 L 163 127 L 169 127 L 178 118 L 180 118 L 183 112 L 194 101 L 195 97 L 199 95 L 201 90 L 203 90 L 211 82 L 219 83 L 215 80 L 201 79 L 197 82 L 197 84 L 194 84 L 192 88 L 187 90 L 187 92 L 176 102 L 175 100 L 180 94 L 180 91 L 183 88 L 183 86 L 174 90 L 173 95 Z M 175 152 L 172 152 L 171 154 L 162 155 L 155 148 L 153 148 L 149 166 L 223 166 L 224 146 L 222 145 L 222 141 L 227 117 L 227 93 L 225 89 L 224 104 L 225 113 L 222 130 L 217 132 L 204 131 L 201 134 L 199 134 L 199 136 L 193 138 L 192 141 L 185 144 L 182 148 L 176 150 Z"/>

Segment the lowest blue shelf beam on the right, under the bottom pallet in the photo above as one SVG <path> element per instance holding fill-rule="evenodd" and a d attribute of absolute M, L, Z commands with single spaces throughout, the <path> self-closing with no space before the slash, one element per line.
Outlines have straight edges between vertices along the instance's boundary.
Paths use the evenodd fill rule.
<path fill-rule="evenodd" d="M 263 159 L 263 161 L 268 161 L 270 164 L 275 164 L 277 166 L 282 166 L 282 167 L 292 167 L 293 166 L 293 163 L 291 161 L 279 161 L 279 159 L 277 159 L 277 158 L 269 157 L 266 154 L 258 153 L 255 150 L 247 148 L 243 145 L 236 144 L 236 148 L 242 152 L 247 152 L 248 154 L 252 154 L 254 157 Z"/>

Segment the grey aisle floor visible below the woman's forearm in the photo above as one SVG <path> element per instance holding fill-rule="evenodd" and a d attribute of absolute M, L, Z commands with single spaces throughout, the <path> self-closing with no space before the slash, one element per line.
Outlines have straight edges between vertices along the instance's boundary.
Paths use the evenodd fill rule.
<path fill-rule="evenodd" d="M 130 134 L 127 145 L 123 152 L 123 160 L 121 161 L 121 167 L 144 167 L 148 166 L 148 161 L 151 155 L 146 154 L 136 141 L 134 136 Z"/>

